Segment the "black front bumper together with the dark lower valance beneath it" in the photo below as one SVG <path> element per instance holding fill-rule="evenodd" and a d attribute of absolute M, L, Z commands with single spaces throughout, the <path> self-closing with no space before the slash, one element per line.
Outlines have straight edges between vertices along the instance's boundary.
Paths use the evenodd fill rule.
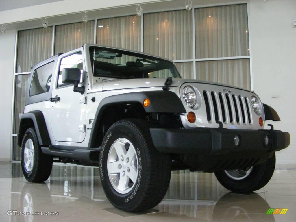
<path fill-rule="evenodd" d="M 272 127 L 273 128 L 273 127 Z M 290 134 L 279 130 L 230 130 L 223 128 L 151 128 L 155 148 L 175 154 L 174 169 L 215 172 L 247 168 L 265 162 L 289 146 Z M 235 136 L 240 139 L 236 146 Z M 268 144 L 266 144 L 266 136 Z"/>

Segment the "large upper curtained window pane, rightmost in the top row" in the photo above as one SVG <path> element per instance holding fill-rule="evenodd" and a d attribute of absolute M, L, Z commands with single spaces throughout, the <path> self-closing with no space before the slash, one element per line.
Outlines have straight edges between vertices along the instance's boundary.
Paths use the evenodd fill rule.
<path fill-rule="evenodd" d="M 196 58 L 249 55 L 247 5 L 195 9 Z"/>

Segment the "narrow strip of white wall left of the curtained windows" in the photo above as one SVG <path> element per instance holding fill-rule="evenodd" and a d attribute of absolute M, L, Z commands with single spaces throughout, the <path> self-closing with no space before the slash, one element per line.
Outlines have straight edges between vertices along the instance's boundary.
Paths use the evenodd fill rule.
<path fill-rule="evenodd" d="M 12 82 L 15 54 L 16 30 L 0 34 L 0 161 L 10 160 L 11 152 L 11 118 L 12 118 Z"/>

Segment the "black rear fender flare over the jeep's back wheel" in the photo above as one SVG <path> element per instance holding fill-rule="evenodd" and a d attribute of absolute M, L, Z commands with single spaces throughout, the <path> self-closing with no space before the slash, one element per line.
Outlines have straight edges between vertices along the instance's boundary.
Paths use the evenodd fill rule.
<path fill-rule="evenodd" d="M 22 114 L 20 117 L 20 127 L 18 133 L 18 145 L 22 145 L 22 139 L 26 132 L 26 130 L 30 127 L 31 121 L 35 127 L 35 131 L 37 134 L 37 138 L 40 145 L 49 146 L 51 145 L 51 141 L 49 138 L 49 133 L 47 131 L 44 115 L 41 111 L 30 111 Z"/>

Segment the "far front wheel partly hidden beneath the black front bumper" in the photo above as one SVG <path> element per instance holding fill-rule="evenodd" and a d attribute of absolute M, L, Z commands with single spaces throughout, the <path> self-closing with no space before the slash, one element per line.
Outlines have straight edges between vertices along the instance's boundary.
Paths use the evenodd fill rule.
<path fill-rule="evenodd" d="M 239 171 L 220 170 L 215 172 L 215 176 L 222 186 L 236 193 L 250 193 L 265 186 L 274 173 L 276 165 L 276 155 L 266 160 L 266 162 L 250 168 L 250 172 L 244 176 L 239 176 Z M 247 171 L 243 171 L 247 172 Z"/>

